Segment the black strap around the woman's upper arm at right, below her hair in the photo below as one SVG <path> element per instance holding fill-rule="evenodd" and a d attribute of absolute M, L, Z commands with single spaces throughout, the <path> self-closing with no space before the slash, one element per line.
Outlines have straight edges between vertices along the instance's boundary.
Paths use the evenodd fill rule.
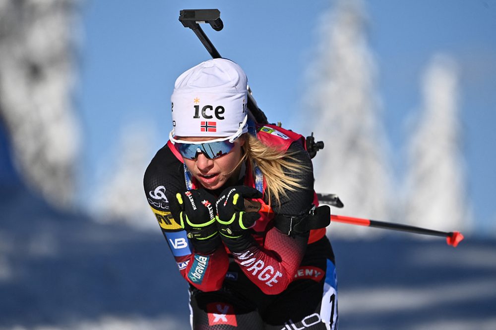
<path fill-rule="evenodd" d="M 331 222 L 331 209 L 328 205 L 317 208 L 313 206 L 309 213 L 304 216 L 287 217 L 278 214 L 274 217 L 274 226 L 288 236 L 305 234 L 312 229 L 320 229 L 329 226 Z"/>

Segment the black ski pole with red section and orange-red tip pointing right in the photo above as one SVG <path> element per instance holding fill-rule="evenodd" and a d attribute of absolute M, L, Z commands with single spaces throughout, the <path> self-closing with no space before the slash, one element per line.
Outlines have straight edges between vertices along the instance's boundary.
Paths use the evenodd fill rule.
<path fill-rule="evenodd" d="M 339 198 L 336 196 L 339 200 Z M 247 211 L 254 212 L 264 212 L 264 213 L 273 213 L 272 209 L 265 204 L 246 200 L 245 199 L 245 207 Z M 392 222 L 383 222 L 372 219 L 364 219 L 364 218 L 356 218 L 356 217 L 347 217 L 343 215 L 335 215 L 331 214 L 331 221 L 333 222 L 341 222 L 350 225 L 358 225 L 358 226 L 366 226 L 366 227 L 374 227 L 374 228 L 382 228 L 395 230 L 400 232 L 409 232 L 414 234 L 422 234 L 422 235 L 431 235 L 431 236 L 442 236 L 446 237 L 446 243 L 448 245 L 456 247 L 459 242 L 462 241 L 463 235 L 460 232 L 441 232 L 435 231 L 432 229 L 414 227 L 409 225 L 397 224 Z"/>

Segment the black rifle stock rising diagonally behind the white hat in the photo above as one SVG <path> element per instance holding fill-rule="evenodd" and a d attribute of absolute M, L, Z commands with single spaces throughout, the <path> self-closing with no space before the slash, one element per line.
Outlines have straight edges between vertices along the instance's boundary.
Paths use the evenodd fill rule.
<path fill-rule="evenodd" d="M 208 23 L 215 31 L 220 31 L 224 27 L 224 23 L 220 19 L 219 9 L 183 9 L 179 11 L 179 21 L 183 23 L 185 28 L 193 30 L 194 34 L 203 46 L 210 53 L 212 58 L 221 58 L 220 53 L 215 49 L 214 45 L 208 39 L 205 32 L 198 23 Z M 267 117 L 262 110 L 256 105 L 256 101 L 251 95 L 251 90 L 248 88 L 247 105 L 250 113 L 259 124 L 268 124 Z"/>

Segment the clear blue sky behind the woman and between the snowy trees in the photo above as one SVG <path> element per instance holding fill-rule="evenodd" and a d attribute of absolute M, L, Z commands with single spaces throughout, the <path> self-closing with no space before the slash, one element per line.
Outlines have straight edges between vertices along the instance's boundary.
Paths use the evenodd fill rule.
<path fill-rule="evenodd" d="M 178 21 L 181 9 L 219 8 L 224 29 L 204 30 L 222 56 L 238 62 L 269 121 L 297 128 L 305 70 L 321 12 L 332 1 L 89 0 L 82 5 L 80 81 L 82 181 L 86 194 L 109 164 L 123 125 L 145 122 L 158 138 L 170 130 L 174 81 L 209 54 Z M 496 0 L 366 1 L 377 91 L 396 171 L 403 171 L 407 122 L 421 104 L 423 70 L 437 52 L 461 69 L 461 121 L 469 195 L 479 229 L 495 228 Z M 311 116 L 311 114 L 309 114 Z M 308 134 L 310 132 L 301 132 Z M 397 220 L 401 222 L 400 220 Z"/>

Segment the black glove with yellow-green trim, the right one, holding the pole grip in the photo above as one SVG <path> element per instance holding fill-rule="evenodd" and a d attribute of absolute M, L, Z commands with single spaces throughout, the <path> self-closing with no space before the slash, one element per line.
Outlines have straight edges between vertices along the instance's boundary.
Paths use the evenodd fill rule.
<path fill-rule="evenodd" d="M 221 238 L 233 252 L 246 249 L 252 242 L 248 229 L 260 218 L 258 212 L 246 212 L 245 198 L 261 198 L 262 193 L 247 186 L 225 189 L 215 203 Z"/>

